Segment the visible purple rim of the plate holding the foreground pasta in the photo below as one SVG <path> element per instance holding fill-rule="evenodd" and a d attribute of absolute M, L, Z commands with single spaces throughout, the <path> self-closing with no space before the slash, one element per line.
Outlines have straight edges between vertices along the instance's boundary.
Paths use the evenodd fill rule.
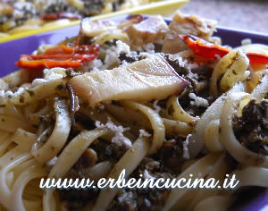
<path fill-rule="evenodd" d="M 128 15 L 121 15 L 119 17 L 113 17 L 111 21 L 121 21 Z M 167 20 L 169 23 L 170 21 Z M 80 26 L 73 26 L 70 28 L 64 28 L 60 30 L 52 30 L 45 33 L 33 35 L 27 38 L 20 38 L 13 41 L 0 44 L 0 63 L 1 71 L 0 77 L 3 77 L 11 72 L 16 71 L 18 68 L 14 65 L 21 55 L 29 55 L 35 51 L 38 46 L 44 44 L 55 45 L 62 41 L 64 38 L 71 38 L 77 36 L 80 30 Z M 215 36 L 222 38 L 222 45 L 228 46 L 240 46 L 241 40 L 244 38 L 250 38 L 252 43 L 268 44 L 268 34 L 259 34 L 253 31 L 228 29 L 219 27 Z M 240 208 L 239 210 L 251 211 L 251 210 L 268 210 L 268 190 L 263 194 L 255 198 L 255 200 L 248 203 L 247 206 Z"/>

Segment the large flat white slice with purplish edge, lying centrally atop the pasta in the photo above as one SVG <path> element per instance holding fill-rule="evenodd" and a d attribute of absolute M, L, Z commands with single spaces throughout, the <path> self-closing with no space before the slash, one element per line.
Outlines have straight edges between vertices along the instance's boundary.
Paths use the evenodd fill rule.
<path fill-rule="evenodd" d="M 79 97 L 94 106 L 105 100 L 161 100 L 188 84 L 163 59 L 152 55 L 113 70 L 88 72 L 70 80 Z"/>

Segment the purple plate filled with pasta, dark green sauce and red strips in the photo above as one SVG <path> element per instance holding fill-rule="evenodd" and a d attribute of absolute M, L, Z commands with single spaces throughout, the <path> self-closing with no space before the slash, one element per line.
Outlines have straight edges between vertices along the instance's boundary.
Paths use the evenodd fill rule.
<path fill-rule="evenodd" d="M 1 207 L 264 210 L 268 37 L 216 29 L 180 12 L 123 15 L 0 44 Z M 211 178 L 214 189 L 98 185 Z M 53 179 L 93 186 L 40 185 Z"/>

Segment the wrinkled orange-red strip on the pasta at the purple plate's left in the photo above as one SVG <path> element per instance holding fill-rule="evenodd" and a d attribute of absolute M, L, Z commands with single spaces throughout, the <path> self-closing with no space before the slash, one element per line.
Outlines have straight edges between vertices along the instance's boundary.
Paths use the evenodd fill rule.
<path fill-rule="evenodd" d="M 54 46 L 42 55 L 21 55 L 15 63 L 21 68 L 40 70 L 53 67 L 79 67 L 85 62 L 94 60 L 99 53 L 99 46 Z"/>

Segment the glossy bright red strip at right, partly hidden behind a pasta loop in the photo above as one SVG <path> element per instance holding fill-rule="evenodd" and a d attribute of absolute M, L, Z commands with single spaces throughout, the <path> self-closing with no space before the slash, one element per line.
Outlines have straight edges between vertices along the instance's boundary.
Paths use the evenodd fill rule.
<path fill-rule="evenodd" d="M 230 48 L 218 46 L 194 36 L 179 35 L 179 38 L 183 40 L 196 55 L 201 55 L 205 58 L 215 59 L 216 55 L 223 57 L 230 52 Z M 247 53 L 246 55 L 250 63 L 268 64 L 268 55 L 257 53 Z"/>

